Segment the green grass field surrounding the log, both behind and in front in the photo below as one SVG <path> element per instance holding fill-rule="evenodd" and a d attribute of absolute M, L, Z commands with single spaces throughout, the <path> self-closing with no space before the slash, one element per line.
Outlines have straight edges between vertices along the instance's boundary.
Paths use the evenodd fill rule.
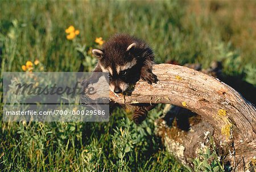
<path fill-rule="evenodd" d="M 221 61 L 224 74 L 256 85 L 255 9 L 253 1 L 1 1 L 1 78 L 35 59 L 44 71 L 91 71 L 95 38 L 124 32 L 147 41 L 157 63 Z M 69 25 L 80 30 L 72 41 Z M 139 127 L 121 110 L 109 123 L 0 122 L 0 169 L 185 171 L 154 135 L 161 110 Z"/>

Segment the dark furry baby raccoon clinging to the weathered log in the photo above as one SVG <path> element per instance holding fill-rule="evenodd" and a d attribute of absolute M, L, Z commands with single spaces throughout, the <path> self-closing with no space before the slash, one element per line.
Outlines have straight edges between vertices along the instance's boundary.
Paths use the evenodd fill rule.
<path fill-rule="evenodd" d="M 114 93 L 125 92 L 130 84 L 135 84 L 139 79 L 148 84 L 157 81 L 156 75 L 152 73 L 154 53 L 146 42 L 138 38 L 115 35 L 103 45 L 102 50 L 93 49 L 92 53 L 98 58 L 94 72 L 109 73 L 110 90 Z M 146 119 L 147 111 L 155 105 L 141 104 L 133 107 L 133 121 L 139 124 Z"/>

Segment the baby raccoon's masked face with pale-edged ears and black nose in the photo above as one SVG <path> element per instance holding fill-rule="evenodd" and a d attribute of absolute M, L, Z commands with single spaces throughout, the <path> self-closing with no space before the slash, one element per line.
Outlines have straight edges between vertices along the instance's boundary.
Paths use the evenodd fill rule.
<path fill-rule="evenodd" d="M 94 49 L 93 54 L 98 58 L 98 65 L 103 72 L 108 72 L 110 90 L 122 93 L 139 80 L 141 70 L 137 56 L 133 53 L 136 44 L 123 47 L 112 47 L 112 50 Z"/>

